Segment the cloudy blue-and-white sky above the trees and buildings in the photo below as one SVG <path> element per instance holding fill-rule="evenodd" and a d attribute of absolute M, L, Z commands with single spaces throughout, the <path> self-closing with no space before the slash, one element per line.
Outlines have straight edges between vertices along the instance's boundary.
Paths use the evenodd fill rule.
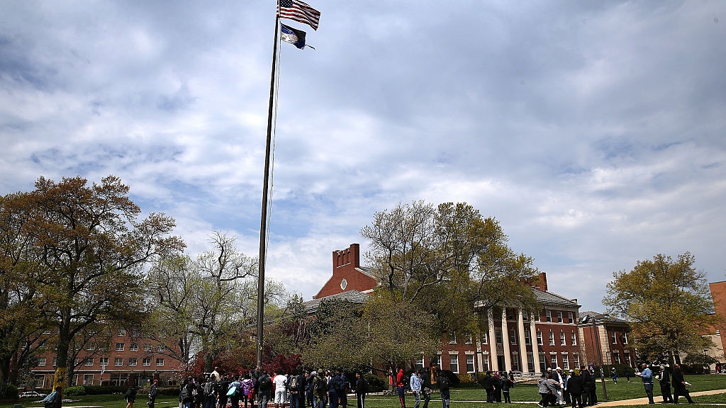
<path fill-rule="evenodd" d="M 465 202 L 552 292 L 690 251 L 726 280 L 726 1 L 333 1 L 280 45 L 266 277 L 310 299 L 377 211 Z M 275 1 L 0 2 L 0 195 L 113 174 L 257 256 Z"/>

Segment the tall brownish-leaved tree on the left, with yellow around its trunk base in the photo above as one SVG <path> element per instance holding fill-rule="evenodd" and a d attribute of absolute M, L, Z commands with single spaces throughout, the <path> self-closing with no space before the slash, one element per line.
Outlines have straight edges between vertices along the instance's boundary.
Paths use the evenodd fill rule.
<path fill-rule="evenodd" d="M 81 176 L 60 183 L 40 177 L 27 201 L 21 234 L 41 273 L 32 282 L 46 319 L 57 327 L 56 384 L 67 377 L 73 338 L 101 322 L 139 325 L 144 266 L 184 247 L 168 234 L 175 221 L 141 209 L 115 176 L 87 185 Z M 30 282 L 28 282 L 30 283 Z"/>

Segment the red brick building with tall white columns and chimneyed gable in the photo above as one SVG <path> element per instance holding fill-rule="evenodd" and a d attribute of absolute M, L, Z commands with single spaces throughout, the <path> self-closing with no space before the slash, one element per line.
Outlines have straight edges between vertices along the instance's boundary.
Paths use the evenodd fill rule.
<path fill-rule="evenodd" d="M 352 244 L 345 250 L 333 251 L 333 276 L 314 300 L 306 302 L 306 307 L 312 311 L 320 301 L 330 298 L 363 303 L 378 285 L 370 270 L 360 265 L 359 244 Z M 428 362 L 421 356 L 411 362 L 412 367 L 431 364 L 457 373 L 513 370 L 535 375 L 547 367 L 579 366 L 584 355 L 577 327 L 577 300 L 550 292 L 544 273 L 540 274 L 539 285 L 531 290 L 544 306 L 539 314 L 530 316 L 507 305 L 487 310 L 489 332 L 482 338 L 452 333 L 442 341 L 436 356 Z"/>

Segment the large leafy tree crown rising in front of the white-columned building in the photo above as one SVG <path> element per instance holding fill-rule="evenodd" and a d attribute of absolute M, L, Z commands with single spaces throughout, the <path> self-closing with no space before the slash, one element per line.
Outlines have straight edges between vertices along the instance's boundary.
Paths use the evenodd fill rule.
<path fill-rule="evenodd" d="M 471 205 L 399 204 L 375 213 L 361 234 L 390 301 L 431 314 L 439 336 L 481 332 L 478 311 L 501 303 L 537 309 L 532 259 L 514 253 L 499 223 Z"/>

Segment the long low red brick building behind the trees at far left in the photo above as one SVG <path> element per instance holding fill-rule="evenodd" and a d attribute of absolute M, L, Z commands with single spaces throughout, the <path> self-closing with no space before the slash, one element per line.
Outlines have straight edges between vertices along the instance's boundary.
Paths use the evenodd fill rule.
<path fill-rule="evenodd" d="M 152 378 L 164 384 L 174 383 L 180 363 L 167 351 L 156 340 L 116 330 L 110 337 L 90 341 L 78 351 L 73 385 L 126 385 L 129 380 L 144 385 Z M 37 354 L 38 366 L 32 370 L 35 388 L 51 388 L 57 357 L 51 348 L 42 345 Z"/>

